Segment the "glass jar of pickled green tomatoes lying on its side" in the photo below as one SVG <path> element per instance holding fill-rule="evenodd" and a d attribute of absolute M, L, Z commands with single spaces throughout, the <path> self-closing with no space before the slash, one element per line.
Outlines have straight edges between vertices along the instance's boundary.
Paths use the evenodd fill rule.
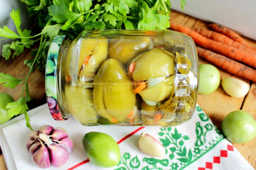
<path fill-rule="evenodd" d="M 191 119 L 198 56 L 189 36 L 171 30 L 84 30 L 56 36 L 46 63 L 55 120 L 82 125 L 170 127 Z"/>

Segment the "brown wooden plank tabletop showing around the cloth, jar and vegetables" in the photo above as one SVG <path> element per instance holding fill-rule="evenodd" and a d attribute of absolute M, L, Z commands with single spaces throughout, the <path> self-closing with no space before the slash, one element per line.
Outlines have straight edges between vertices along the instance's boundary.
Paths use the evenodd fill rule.
<path fill-rule="evenodd" d="M 171 22 L 175 22 L 189 28 L 207 28 L 207 22 L 199 20 L 197 18 L 193 18 L 191 16 L 182 14 L 180 12 L 176 12 L 172 10 L 171 13 Z M 245 41 L 250 45 L 256 47 L 256 41 L 251 40 L 249 38 L 244 37 Z M 2 57 L 0 58 L 0 72 L 8 73 L 17 78 L 24 78 L 28 73 L 28 67 L 26 67 L 23 62 L 24 59 L 29 59 L 30 50 L 25 50 L 20 56 L 16 57 L 14 60 L 10 59 L 5 61 Z M 199 58 L 199 63 L 208 63 L 207 61 Z M 221 79 L 225 77 L 231 77 L 230 73 L 219 69 Z M 218 87 L 216 91 L 211 93 L 210 95 L 199 95 L 197 103 L 204 110 L 204 112 L 210 117 L 212 122 L 220 129 L 220 125 L 224 117 L 235 110 L 243 110 L 256 119 L 256 83 L 247 81 L 242 79 L 248 83 L 250 83 L 250 91 L 246 95 L 246 97 L 242 98 L 233 98 L 228 96 L 222 89 L 221 86 Z M 36 70 L 31 74 L 28 86 L 30 90 L 30 95 L 34 99 L 30 103 L 28 103 L 28 107 L 33 109 L 38 107 L 44 103 L 46 103 L 46 95 L 44 89 L 44 73 Z M 20 91 L 22 89 L 22 85 L 18 85 L 15 89 L 8 89 L 0 86 L 0 93 L 8 93 L 15 100 L 20 97 Z M 24 116 L 24 115 L 21 115 Z M 25 125 L 24 125 L 25 126 Z M 251 140 L 246 144 L 235 144 L 233 143 L 236 149 L 244 156 L 246 160 L 256 169 L 256 138 Z M 2 152 L 0 152 L 0 169 L 6 170 L 6 164 L 4 162 L 4 157 Z"/>

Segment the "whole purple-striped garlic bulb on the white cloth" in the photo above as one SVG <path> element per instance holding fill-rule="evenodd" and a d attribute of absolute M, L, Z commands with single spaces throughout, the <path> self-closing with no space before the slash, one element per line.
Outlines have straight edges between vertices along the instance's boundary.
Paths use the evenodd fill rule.
<path fill-rule="evenodd" d="M 62 166 L 73 149 L 73 142 L 64 128 L 44 125 L 29 134 L 26 147 L 33 162 L 40 168 Z"/>

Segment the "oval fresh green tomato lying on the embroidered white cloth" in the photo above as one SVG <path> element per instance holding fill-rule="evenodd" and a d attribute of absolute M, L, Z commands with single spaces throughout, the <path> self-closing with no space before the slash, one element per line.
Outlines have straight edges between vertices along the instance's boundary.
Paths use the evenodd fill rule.
<path fill-rule="evenodd" d="M 120 149 L 106 133 L 88 132 L 83 138 L 84 150 L 90 162 L 97 166 L 112 167 L 120 162 Z"/>

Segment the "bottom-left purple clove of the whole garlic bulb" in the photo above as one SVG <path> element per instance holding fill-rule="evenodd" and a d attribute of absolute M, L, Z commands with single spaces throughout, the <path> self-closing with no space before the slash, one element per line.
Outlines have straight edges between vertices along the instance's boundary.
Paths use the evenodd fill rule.
<path fill-rule="evenodd" d="M 32 160 L 40 168 L 49 168 L 51 166 L 49 152 L 46 146 L 40 142 L 41 146 L 34 154 L 32 154 Z"/>

